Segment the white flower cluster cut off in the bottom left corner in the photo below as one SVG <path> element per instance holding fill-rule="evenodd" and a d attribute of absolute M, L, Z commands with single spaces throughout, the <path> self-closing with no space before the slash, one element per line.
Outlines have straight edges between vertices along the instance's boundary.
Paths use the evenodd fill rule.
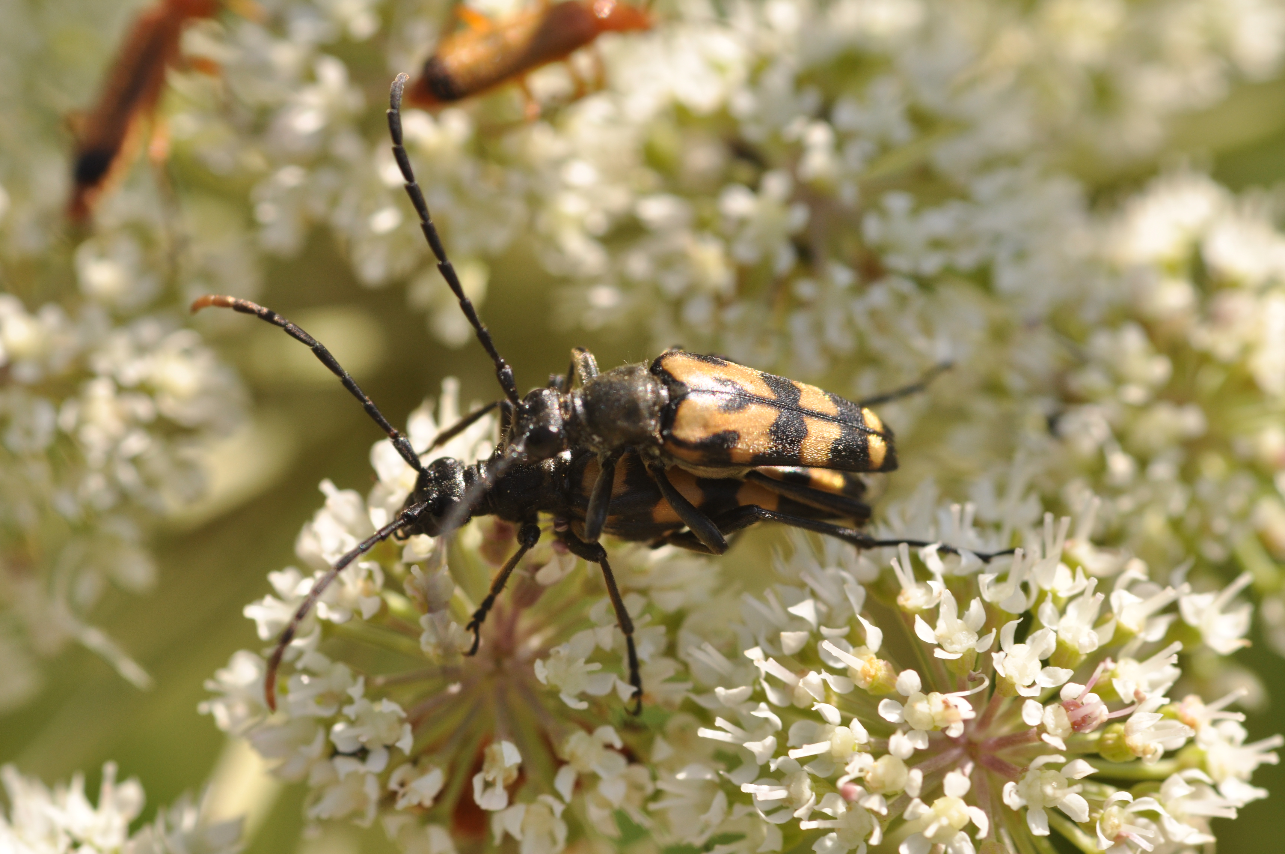
<path fill-rule="evenodd" d="M 155 821 L 130 833 L 143 812 L 143 786 L 116 781 L 116 765 L 103 767 L 95 806 L 85 795 L 85 777 L 50 790 L 23 777 L 13 765 L 0 768 L 9 809 L 0 812 L 0 850 L 12 854 L 236 854 L 240 821 L 212 822 L 203 804 L 186 796 L 162 809 Z"/>

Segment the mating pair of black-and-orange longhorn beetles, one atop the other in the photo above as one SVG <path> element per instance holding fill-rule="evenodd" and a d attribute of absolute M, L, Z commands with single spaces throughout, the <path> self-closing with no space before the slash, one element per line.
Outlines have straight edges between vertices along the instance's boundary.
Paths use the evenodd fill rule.
<path fill-rule="evenodd" d="M 857 548 L 929 545 L 876 540 L 860 530 L 870 518 L 870 508 L 862 500 L 865 484 L 858 473 L 896 468 L 892 432 L 866 406 L 813 386 L 681 350 L 667 351 L 650 365 L 598 373 L 594 358 L 577 350 L 567 376 L 520 397 L 513 369 L 464 296 L 402 147 L 400 105 L 407 80 L 407 75 L 398 75 L 389 98 L 393 154 L 438 269 L 491 356 L 505 397 L 465 415 L 442 431 L 433 446 L 416 451 L 329 350 L 303 329 L 236 297 L 204 296 L 193 304 L 193 311 L 216 306 L 253 314 L 307 345 L 419 473 L 397 518 L 335 562 L 314 584 L 281 633 L 267 668 L 269 706 L 275 707 L 276 670 L 299 622 L 346 566 L 389 536 L 438 536 L 474 516 L 493 514 L 518 526 L 518 550 L 496 574 L 468 625 L 473 631 L 470 652 L 477 652 L 482 621 L 514 567 L 540 540 L 540 516 L 553 516 L 554 536 L 573 554 L 603 568 L 639 702 L 642 683 L 634 622 L 607 550 L 598 543 L 603 532 L 655 547 L 672 544 L 721 554 L 727 549 L 727 535 L 770 521 L 834 536 Z M 878 400 L 910 394 L 929 378 Z M 461 463 L 438 458 L 424 466 L 421 454 L 496 408 L 501 435 L 488 459 Z M 948 545 L 941 550 L 956 553 Z M 978 557 L 989 561 L 995 554 Z"/>

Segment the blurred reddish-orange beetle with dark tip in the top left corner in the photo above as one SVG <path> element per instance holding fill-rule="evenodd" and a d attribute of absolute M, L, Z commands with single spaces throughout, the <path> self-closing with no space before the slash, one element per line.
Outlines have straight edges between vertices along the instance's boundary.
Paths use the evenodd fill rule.
<path fill-rule="evenodd" d="M 157 0 L 134 19 L 120 53 L 107 71 L 98 102 L 73 122 L 76 153 L 72 162 L 72 197 L 67 215 L 84 223 L 103 192 L 118 177 L 137 150 L 145 121 L 150 121 L 164 89 L 166 72 L 181 60 L 184 27 L 212 18 L 222 0 Z M 233 0 L 254 12 L 251 0 Z M 199 64 L 199 63 L 194 63 Z M 153 134 L 153 154 L 163 157 L 163 135 Z"/>

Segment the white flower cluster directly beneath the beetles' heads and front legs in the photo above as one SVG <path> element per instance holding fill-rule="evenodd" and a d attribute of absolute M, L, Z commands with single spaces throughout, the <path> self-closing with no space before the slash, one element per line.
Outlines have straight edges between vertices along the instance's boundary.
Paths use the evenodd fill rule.
<path fill-rule="evenodd" d="M 428 404 L 411 414 L 415 448 L 457 419 L 455 395 L 448 381 L 436 417 Z M 441 454 L 486 458 L 493 433 L 493 418 L 484 418 Z M 314 580 L 401 508 L 414 472 L 387 440 L 371 463 L 379 480 L 368 499 L 323 484 L 325 507 L 297 541 L 311 572 L 270 574 L 275 595 L 245 608 L 261 639 L 275 639 Z M 513 550 L 513 532 L 474 521 L 452 538 L 450 566 L 451 543 L 442 539 L 377 547 L 344 570 L 290 643 L 275 714 L 263 698 L 265 659 L 251 651 L 207 682 L 216 696 L 202 711 L 247 738 L 278 777 L 306 781 L 310 819 L 379 819 L 409 851 L 454 850 L 452 835 L 487 832 L 496 844 L 513 836 L 527 851 L 560 851 L 568 835 L 618 837 L 622 812 L 650 826 L 644 804 L 654 781 L 637 756 L 655 747 L 635 725 L 601 723 L 623 718 L 632 688 L 595 567 L 538 545 L 487 617 L 479 653 L 463 655 L 473 639 L 464 626 Z M 690 683 L 676 679 L 684 668 L 666 655 L 666 625 L 650 621 L 696 611 L 717 584 L 707 567 L 691 571 L 669 557 L 613 554 L 637 624 L 645 702 L 667 710 Z M 452 782 L 465 778 L 472 785 Z"/>

